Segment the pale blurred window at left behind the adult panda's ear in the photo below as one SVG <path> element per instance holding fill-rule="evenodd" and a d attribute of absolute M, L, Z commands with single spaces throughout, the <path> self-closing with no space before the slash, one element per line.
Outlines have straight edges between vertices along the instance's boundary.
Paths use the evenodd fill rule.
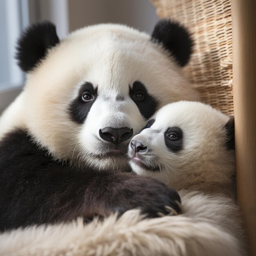
<path fill-rule="evenodd" d="M 24 74 L 15 59 L 16 42 L 28 22 L 27 0 L 0 1 L 0 111 L 14 99 L 24 84 Z"/>

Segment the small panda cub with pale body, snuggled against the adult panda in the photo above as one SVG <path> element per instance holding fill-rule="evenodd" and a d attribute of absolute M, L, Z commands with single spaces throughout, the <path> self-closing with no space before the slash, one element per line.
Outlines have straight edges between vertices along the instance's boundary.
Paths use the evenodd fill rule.
<path fill-rule="evenodd" d="M 197 255 L 245 255 L 243 229 L 232 193 L 234 118 L 199 102 L 168 104 L 132 138 L 128 155 L 135 173 L 154 177 L 180 194 L 184 214 L 173 221 L 180 225 L 181 237 L 177 239 L 185 241 L 186 249 L 199 247 L 202 252 Z M 178 222 L 180 218 L 182 223 Z M 188 228 L 187 220 L 195 223 L 194 229 Z M 202 228 L 202 223 L 208 228 Z M 227 254 L 217 245 L 216 252 L 209 254 L 207 244 L 191 242 L 197 236 L 200 240 L 202 234 L 209 237 L 207 243 L 212 243 L 209 234 L 213 228 L 220 231 L 217 240 L 227 240 Z M 183 237 L 182 230 L 191 241 Z"/>

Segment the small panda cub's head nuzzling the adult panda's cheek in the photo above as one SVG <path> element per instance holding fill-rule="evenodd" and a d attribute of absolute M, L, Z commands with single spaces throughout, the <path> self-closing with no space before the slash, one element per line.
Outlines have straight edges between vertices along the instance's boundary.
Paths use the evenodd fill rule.
<path fill-rule="evenodd" d="M 229 117 L 203 103 L 168 104 L 132 138 L 130 166 L 135 173 L 155 177 L 175 189 L 221 182 L 234 171 L 228 121 Z"/>

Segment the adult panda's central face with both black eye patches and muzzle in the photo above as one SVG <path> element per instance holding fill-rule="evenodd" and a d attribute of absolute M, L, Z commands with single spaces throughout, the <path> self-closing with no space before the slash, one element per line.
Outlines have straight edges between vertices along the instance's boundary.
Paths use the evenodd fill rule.
<path fill-rule="evenodd" d="M 70 104 L 72 121 L 81 127 L 78 138 L 81 158 L 90 157 L 90 164 L 97 168 L 101 164 L 105 167 L 108 162 L 122 168 L 127 162 L 130 137 L 141 130 L 146 118 L 157 108 L 157 100 L 141 82 L 126 87 L 122 92 L 85 82 Z"/>

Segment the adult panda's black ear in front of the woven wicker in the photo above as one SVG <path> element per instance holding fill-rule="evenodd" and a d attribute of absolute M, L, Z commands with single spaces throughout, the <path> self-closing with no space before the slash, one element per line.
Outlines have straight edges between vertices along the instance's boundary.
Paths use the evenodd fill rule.
<path fill-rule="evenodd" d="M 166 19 L 159 20 L 151 40 L 161 43 L 181 67 L 189 62 L 193 43 L 188 31 L 179 23 Z"/>

